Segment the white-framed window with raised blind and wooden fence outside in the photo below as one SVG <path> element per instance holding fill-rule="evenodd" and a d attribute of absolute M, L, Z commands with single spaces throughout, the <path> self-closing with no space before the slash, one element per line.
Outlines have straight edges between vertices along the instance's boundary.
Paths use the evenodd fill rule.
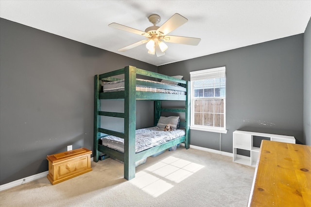
<path fill-rule="evenodd" d="M 225 67 L 190 72 L 191 129 L 226 133 Z"/>

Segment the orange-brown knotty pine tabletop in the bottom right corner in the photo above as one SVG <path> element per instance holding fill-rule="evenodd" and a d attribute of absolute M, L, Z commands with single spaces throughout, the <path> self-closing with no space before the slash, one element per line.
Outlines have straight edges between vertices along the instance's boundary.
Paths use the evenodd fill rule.
<path fill-rule="evenodd" d="M 262 140 L 248 207 L 311 207 L 311 146 Z"/>

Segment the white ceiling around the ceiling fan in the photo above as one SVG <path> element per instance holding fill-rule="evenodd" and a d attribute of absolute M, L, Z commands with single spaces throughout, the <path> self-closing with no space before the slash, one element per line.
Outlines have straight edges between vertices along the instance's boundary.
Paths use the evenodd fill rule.
<path fill-rule="evenodd" d="M 201 42 L 167 43 L 161 57 L 145 45 L 119 52 L 145 38 L 107 26 L 145 31 L 149 15 L 161 16 L 161 26 L 175 13 L 188 22 L 169 34 Z M 303 33 L 311 0 L 0 0 L 0 17 L 159 66 Z"/>

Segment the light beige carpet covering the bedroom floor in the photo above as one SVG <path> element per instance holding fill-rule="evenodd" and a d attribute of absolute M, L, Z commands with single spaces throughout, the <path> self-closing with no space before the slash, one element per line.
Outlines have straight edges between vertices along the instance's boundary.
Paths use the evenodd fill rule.
<path fill-rule="evenodd" d="M 136 168 L 131 181 L 113 159 L 52 185 L 46 177 L 0 192 L 1 207 L 245 207 L 255 168 L 181 147 Z"/>

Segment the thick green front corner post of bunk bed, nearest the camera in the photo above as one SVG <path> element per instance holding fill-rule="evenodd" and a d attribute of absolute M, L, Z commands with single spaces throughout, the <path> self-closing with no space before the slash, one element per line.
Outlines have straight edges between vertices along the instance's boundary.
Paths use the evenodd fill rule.
<path fill-rule="evenodd" d="M 124 68 L 124 178 L 135 177 L 136 67 Z"/>

